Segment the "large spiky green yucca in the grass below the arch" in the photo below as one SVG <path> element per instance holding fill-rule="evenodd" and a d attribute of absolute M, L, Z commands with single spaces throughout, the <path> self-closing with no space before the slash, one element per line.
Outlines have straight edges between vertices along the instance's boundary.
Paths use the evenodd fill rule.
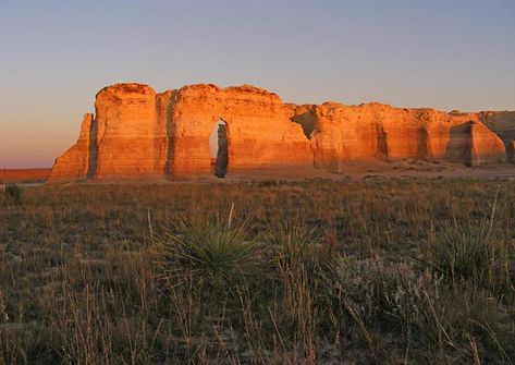
<path fill-rule="evenodd" d="M 214 220 L 180 221 L 159 240 L 160 264 L 172 285 L 231 291 L 259 273 L 261 247 L 248 235 L 249 221 L 231 227 Z"/>

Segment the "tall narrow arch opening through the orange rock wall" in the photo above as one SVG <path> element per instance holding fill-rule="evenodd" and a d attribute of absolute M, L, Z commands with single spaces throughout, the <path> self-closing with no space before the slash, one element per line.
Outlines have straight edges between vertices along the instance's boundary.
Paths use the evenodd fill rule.
<path fill-rule="evenodd" d="M 217 178 L 225 178 L 229 166 L 228 124 L 219 119 L 209 135 L 211 171 Z"/>

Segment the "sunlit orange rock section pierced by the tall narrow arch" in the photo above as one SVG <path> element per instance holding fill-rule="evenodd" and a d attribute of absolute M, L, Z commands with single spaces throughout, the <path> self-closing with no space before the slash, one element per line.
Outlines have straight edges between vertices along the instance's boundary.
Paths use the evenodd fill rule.
<path fill-rule="evenodd" d="M 210 173 L 209 135 L 226 123 L 231 172 L 312 165 L 310 143 L 279 96 L 254 86 L 185 86 L 172 105 L 171 174 Z"/>

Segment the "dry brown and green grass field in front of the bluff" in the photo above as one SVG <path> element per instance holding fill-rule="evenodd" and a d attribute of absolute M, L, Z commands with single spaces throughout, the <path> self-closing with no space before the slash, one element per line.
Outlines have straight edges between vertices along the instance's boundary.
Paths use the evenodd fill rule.
<path fill-rule="evenodd" d="M 0 194 L 0 364 L 510 364 L 515 183 Z"/>

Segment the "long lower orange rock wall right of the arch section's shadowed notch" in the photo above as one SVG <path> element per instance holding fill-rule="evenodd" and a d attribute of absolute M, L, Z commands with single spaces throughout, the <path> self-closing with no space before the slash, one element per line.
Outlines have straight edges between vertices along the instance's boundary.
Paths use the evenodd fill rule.
<path fill-rule="evenodd" d="M 502 141 L 476 113 L 326 102 L 299 110 L 310 130 L 315 166 L 344 172 L 348 161 L 438 159 L 479 166 L 506 160 Z"/>

